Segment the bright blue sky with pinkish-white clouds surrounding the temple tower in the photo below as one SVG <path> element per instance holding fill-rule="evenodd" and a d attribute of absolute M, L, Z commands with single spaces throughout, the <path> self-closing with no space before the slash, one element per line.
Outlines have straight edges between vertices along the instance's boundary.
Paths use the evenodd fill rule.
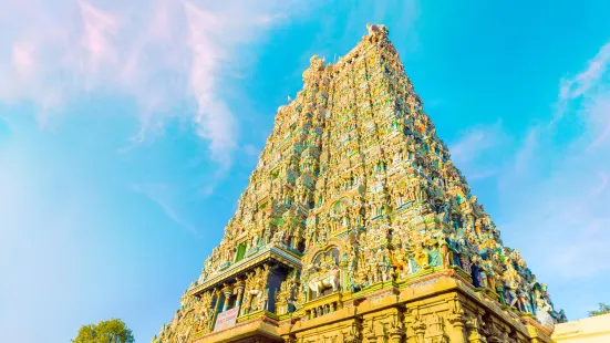
<path fill-rule="evenodd" d="M 0 0 L 0 341 L 137 342 L 313 54 L 384 23 L 473 194 L 575 320 L 610 302 L 609 1 Z"/>

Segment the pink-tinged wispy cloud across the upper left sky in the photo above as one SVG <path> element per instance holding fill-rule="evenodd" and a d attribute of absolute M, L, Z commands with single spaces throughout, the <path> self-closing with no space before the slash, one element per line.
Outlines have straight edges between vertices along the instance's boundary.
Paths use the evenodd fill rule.
<path fill-rule="evenodd" d="M 239 141 L 239 121 L 223 92 L 231 86 L 226 75 L 245 65 L 241 48 L 293 10 L 272 1 L 6 3 L 0 51 L 10 54 L 0 56 L 0 102 L 34 103 L 44 126 L 71 98 L 127 96 L 139 105 L 139 139 L 159 122 L 186 116 L 226 168 Z M 173 113 L 185 102 L 196 110 Z"/>

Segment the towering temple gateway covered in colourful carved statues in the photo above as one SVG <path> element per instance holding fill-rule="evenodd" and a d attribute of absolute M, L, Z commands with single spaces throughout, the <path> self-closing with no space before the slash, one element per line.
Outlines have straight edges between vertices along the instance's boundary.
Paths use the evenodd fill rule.
<path fill-rule="evenodd" d="M 547 285 L 471 194 L 383 25 L 311 58 L 154 343 L 551 342 Z"/>

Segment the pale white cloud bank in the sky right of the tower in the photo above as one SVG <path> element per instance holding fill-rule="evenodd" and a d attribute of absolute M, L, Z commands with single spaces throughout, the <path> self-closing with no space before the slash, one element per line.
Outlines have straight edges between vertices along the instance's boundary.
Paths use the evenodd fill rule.
<path fill-rule="evenodd" d="M 521 251 L 538 280 L 551 285 L 557 308 L 568 305 L 573 318 L 608 297 L 602 284 L 610 271 L 610 42 L 558 89 L 549 119 L 520 137 L 503 134 L 502 125 L 482 126 L 451 152 L 471 181 L 497 172 L 492 212 L 504 242 Z M 506 149 L 504 139 L 488 141 L 494 135 L 520 146 Z"/>

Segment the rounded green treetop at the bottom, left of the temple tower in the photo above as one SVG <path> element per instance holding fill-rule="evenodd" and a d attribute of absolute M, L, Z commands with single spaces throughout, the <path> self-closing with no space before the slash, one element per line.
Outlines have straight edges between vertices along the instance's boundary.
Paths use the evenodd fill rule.
<path fill-rule="evenodd" d="M 134 335 L 120 319 L 101 321 L 97 324 L 81 326 L 73 343 L 134 343 Z"/>

